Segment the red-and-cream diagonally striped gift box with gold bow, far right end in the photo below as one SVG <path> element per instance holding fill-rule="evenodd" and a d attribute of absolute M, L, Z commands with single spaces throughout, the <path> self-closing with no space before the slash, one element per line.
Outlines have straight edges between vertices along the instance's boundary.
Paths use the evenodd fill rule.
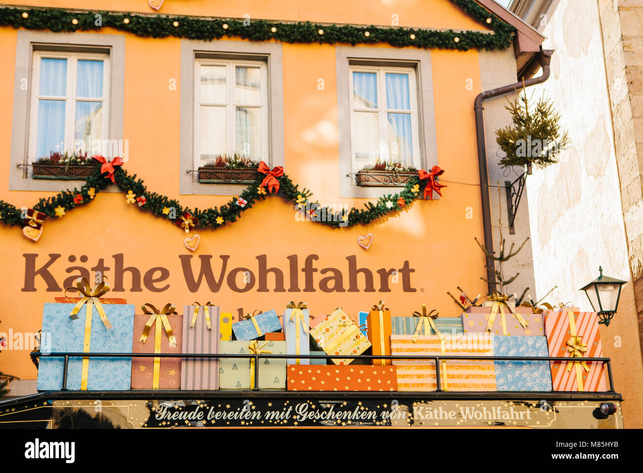
<path fill-rule="evenodd" d="M 570 324 L 573 317 L 573 327 Z M 599 319 L 595 312 L 545 311 L 545 331 L 550 357 L 573 357 L 572 366 L 568 362 L 552 361 L 552 384 L 554 391 L 607 391 L 606 367 L 602 362 L 584 362 L 583 358 L 602 358 Z M 581 337 L 577 339 L 574 337 Z M 570 342 L 573 346 L 568 345 Z M 579 348 L 575 351 L 574 346 Z M 586 351 L 584 351 L 586 350 Z M 578 360 L 578 361 L 576 361 Z M 579 377 L 582 389 L 579 389 Z"/>

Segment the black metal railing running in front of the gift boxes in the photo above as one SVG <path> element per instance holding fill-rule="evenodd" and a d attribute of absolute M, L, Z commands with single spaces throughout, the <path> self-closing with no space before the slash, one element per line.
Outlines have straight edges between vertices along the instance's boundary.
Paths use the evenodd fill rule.
<path fill-rule="evenodd" d="M 32 352 L 32 359 L 38 357 L 62 357 L 64 358 L 64 366 L 62 369 L 62 388 L 61 391 L 68 391 L 67 389 L 67 371 L 69 358 L 198 358 L 198 359 L 212 359 L 212 358 L 254 358 L 255 360 L 255 388 L 253 391 L 259 391 L 259 358 L 277 358 L 277 359 L 293 359 L 304 358 L 307 360 L 327 360 L 332 358 L 342 359 L 337 355 L 273 355 L 271 353 L 262 353 L 261 355 L 245 355 L 245 354 L 231 354 L 231 353 L 78 353 L 78 352 L 51 352 L 39 353 Z M 560 362 L 602 362 L 606 366 L 608 380 L 610 382 L 610 389 L 608 393 L 614 392 L 613 378 L 611 375 L 611 360 L 610 358 L 572 358 L 572 357 L 473 357 L 473 356 L 451 356 L 451 355 L 350 355 L 350 359 L 356 360 L 417 360 L 417 361 L 433 361 L 435 364 L 435 384 L 436 391 L 444 391 L 440 386 L 440 362 L 442 360 L 475 360 L 475 361 L 515 361 L 515 362 L 538 362 L 538 361 L 560 361 Z M 359 366 L 359 365 L 358 365 Z M 376 365 L 377 366 L 377 365 Z M 184 390 L 185 391 L 185 390 Z M 248 391 L 247 389 L 244 391 Z M 562 393 L 566 391 L 552 391 L 553 393 Z"/>

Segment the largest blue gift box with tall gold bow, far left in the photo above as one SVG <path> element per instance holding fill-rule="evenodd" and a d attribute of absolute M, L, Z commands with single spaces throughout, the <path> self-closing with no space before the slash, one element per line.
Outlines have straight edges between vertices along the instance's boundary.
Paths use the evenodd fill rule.
<path fill-rule="evenodd" d="M 62 357 L 47 357 L 51 352 L 82 352 L 85 340 L 87 304 L 78 311 L 78 319 L 69 314 L 76 304 L 44 304 L 42 313 L 41 358 L 38 368 L 38 391 L 62 389 Z M 107 330 L 92 308 L 89 353 L 130 353 L 134 338 L 134 306 L 102 304 L 112 328 Z M 82 358 L 69 358 L 67 389 L 80 390 Z M 88 391 L 127 391 L 130 389 L 132 358 L 89 357 Z"/>

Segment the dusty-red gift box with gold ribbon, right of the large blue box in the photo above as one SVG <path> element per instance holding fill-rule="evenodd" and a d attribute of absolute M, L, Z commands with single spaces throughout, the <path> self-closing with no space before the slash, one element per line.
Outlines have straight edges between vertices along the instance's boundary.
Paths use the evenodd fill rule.
<path fill-rule="evenodd" d="M 183 353 L 183 315 L 167 315 L 172 328 L 172 335 L 176 337 L 176 346 L 171 347 L 165 328 L 161 320 L 156 320 L 149 331 L 145 342 L 140 340 L 143 329 L 150 314 L 141 313 L 134 315 L 134 340 L 132 353 L 155 353 L 157 329 L 156 324 L 161 324 L 161 349 L 160 353 Z M 160 358 L 160 371 L 158 388 L 179 389 L 181 387 L 181 358 Z M 132 360 L 132 389 L 154 388 L 154 358 L 133 358 Z"/>

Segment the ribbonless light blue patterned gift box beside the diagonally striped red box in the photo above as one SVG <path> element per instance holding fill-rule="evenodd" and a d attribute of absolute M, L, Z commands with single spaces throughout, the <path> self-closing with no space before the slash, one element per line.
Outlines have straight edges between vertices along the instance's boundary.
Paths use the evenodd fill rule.
<path fill-rule="evenodd" d="M 493 339 L 494 357 L 548 357 L 547 337 L 497 336 Z M 501 361 L 496 367 L 498 391 L 551 391 L 552 373 L 546 361 Z"/>

